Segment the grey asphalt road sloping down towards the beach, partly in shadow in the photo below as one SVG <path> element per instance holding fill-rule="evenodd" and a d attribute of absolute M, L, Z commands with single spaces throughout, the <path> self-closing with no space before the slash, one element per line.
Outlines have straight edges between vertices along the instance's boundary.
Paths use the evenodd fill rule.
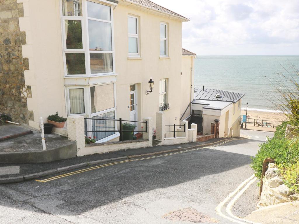
<path fill-rule="evenodd" d="M 253 174 L 250 157 L 260 140 L 137 159 L 45 183 L 0 185 L 0 223 L 190 223 L 164 218 L 180 208 L 232 223 L 215 208 Z M 244 217 L 255 209 L 258 188 L 251 188 L 234 214 Z"/>

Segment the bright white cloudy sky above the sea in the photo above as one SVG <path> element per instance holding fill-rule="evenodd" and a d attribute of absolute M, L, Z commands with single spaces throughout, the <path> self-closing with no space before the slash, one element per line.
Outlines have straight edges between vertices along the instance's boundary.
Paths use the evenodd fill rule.
<path fill-rule="evenodd" d="M 299 55 L 299 0 L 151 0 L 180 15 L 197 55 Z"/>

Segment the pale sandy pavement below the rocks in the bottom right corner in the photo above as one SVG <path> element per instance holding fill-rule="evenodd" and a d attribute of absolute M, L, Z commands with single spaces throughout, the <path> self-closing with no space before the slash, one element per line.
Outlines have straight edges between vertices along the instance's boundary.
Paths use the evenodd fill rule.
<path fill-rule="evenodd" d="M 245 219 L 265 224 L 298 224 L 299 201 L 260 208 Z"/>

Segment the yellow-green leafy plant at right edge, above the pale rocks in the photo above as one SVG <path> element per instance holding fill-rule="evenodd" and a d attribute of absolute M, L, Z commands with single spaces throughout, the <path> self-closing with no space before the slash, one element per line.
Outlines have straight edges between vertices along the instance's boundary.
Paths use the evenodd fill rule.
<path fill-rule="evenodd" d="M 283 183 L 294 193 L 299 193 L 299 162 L 279 164 L 278 170 Z"/>

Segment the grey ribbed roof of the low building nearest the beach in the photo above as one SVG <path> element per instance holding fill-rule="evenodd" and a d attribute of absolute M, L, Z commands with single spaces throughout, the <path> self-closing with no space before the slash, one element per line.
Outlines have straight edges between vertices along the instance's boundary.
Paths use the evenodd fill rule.
<path fill-rule="evenodd" d="M 220 94 L 221 98 L 216 98 L 216 95 Z M 223 90 L 208 89 L 200 90 L 196 95 L 195 99 L 201 100 L 217 100 L 217 101 L 228 101 L 228 102 L 238 102 L 244 96 L 242 93 L 234 93 Z"/>

